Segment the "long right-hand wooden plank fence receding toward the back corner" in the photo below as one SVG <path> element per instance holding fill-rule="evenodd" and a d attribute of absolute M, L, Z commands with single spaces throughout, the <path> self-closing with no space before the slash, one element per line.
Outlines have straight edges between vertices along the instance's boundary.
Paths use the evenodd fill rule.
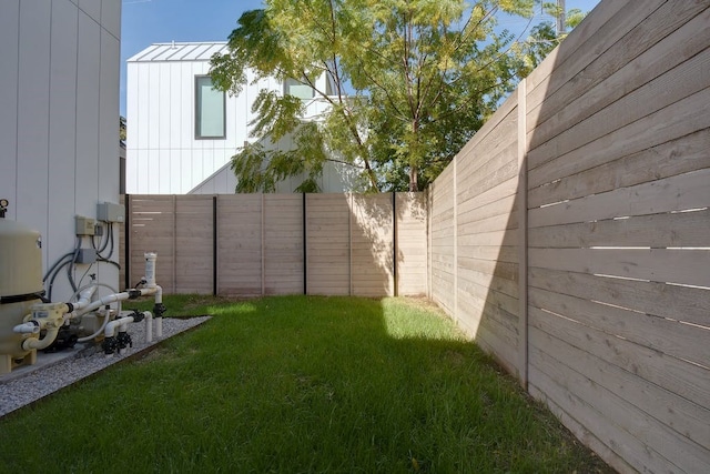
<path fill-rule="evenodd" d="M 602 1 L 429 190 L 429 295 L 620 472 L 710 472 L 710 2 Z"/>

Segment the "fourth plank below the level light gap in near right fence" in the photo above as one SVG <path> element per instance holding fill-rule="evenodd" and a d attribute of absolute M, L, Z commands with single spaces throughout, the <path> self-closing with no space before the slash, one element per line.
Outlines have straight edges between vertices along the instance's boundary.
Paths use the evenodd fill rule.
<path fill-rule="evenodd" d="M 537 307 L 529 309 L 528 317 L 530 327 L 537 327 L 566 341 L 700 406 L 710 406 L 709 369 L 665 356 L 648 347 L 610 336 Z"/>

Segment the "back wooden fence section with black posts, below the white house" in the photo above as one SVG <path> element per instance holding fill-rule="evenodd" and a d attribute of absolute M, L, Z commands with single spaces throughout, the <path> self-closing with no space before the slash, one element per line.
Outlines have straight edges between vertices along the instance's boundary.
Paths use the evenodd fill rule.
<path fill-rule="evenodd" d="M 126 288 L 155 252 L 166 293 L 426 293 L 420 193 L 128 195 L 124 204 Z"/>

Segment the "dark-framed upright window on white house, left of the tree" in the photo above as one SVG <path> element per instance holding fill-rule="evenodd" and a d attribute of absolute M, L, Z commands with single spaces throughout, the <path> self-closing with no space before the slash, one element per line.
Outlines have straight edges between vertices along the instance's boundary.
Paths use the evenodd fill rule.
<path fill-rule="evenodd" d="M 209 75 L 195 77 L 195 139 L 224 139 L 224 92 L 212 87 Z"/>

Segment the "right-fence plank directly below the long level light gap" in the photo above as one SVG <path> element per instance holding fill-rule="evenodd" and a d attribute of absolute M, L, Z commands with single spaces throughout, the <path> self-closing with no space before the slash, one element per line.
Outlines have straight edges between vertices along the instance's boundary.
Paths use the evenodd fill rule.
<path fill-rule="evenodd" d="M 710 251 L 530 249 L 530 266 L 710 288 Z"/>

